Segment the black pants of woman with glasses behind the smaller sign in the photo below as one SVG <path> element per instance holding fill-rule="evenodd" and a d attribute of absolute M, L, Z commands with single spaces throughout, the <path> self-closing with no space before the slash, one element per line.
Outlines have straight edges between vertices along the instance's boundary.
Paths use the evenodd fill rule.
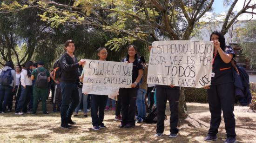
<path fill-rule="evenodd" d="M 104 109 L 106 107 L 108 96 L 106 95 L 91 95 L 91 116 L 93 126 L 104 125 Z M 99 116 L 98 116 L 99 111 Z"/>

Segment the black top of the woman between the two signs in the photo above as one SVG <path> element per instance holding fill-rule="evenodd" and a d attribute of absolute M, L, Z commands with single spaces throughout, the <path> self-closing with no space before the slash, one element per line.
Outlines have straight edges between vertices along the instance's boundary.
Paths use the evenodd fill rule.
<path fill-rule="evenodd" d="M 129 62 L 129 59 L 128 58 L 124 58 L 122 60 L 122 62 L 125 62 L 125 61 L 128 61 Z M 129 62 L 130 63 L 130 62 Z M 132 83 L 135 82 L 136 78 L 139 76 L 139 70 L 143 70 L 144 67 L 143 67 L 143 64 L 141 62 L 141 59 L 140 58 L 136 58 L 135 61 L 133 62 L 133 78 L 132 78 Z M 139 85 L 139 84 L 138 84 Z M 137 86 L 138 86 L 137 85 Z M 139 87 L 139 86 L 138 86 Z"/>

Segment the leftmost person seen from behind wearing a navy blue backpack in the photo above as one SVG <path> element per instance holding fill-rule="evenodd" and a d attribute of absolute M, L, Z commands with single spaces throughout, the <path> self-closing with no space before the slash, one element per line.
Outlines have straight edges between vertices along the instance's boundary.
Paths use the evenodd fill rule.
<path fill-rule="evenodd" d="M 12 96 L 16 84 L 16 72 L 12 61 L 7 61 L 0 71 L 0 113 L 4 113 L 8 99 Z"/>

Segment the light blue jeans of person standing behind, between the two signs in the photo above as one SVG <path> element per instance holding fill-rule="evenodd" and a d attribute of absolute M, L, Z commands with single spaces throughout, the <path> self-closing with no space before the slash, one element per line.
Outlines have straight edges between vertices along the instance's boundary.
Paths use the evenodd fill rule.
<path fill-rule="evenodd" d="M 145 95 L 146 90 L 140 88 L 137 94 L 136 105 L 138 110 L 138 117 L 143 119 L 146 117 Z"/>

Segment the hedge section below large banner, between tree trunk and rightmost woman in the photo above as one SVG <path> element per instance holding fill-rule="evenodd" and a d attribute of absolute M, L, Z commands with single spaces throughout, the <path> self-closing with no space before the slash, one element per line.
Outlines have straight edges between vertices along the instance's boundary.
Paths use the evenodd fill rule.
<path fill-rule="evenodd" d="M 186 102 L 208 103 L 207 90 L 185 87 Z"/>

